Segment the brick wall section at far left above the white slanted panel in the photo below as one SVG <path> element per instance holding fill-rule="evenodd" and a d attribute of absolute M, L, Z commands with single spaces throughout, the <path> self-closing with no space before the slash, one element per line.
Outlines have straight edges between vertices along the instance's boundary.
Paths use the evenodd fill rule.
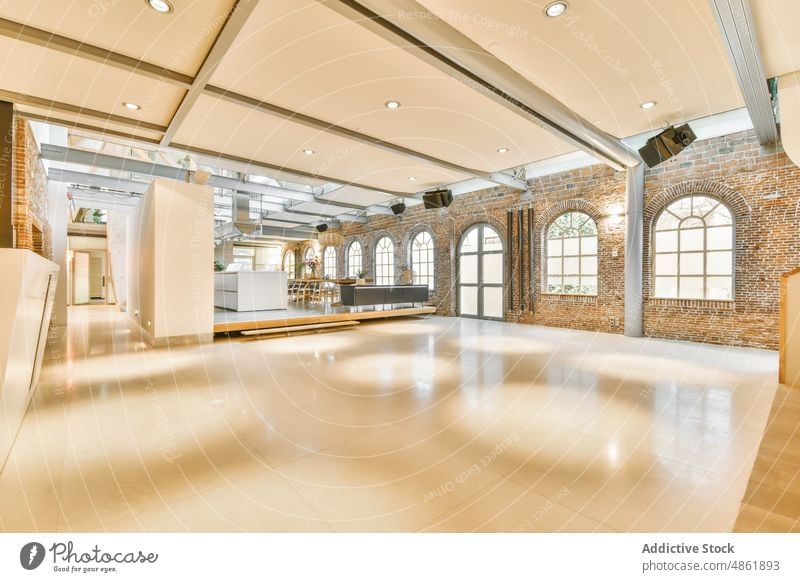
<path fill-rule="evenodd" d="M 16 246 L 52 258 L 52 230 L 48 219 L 47 174 L 28 122 L 14 120 L 14 207 L 12 222 Z M 35 236 L 35 231 L 41 236 Z M 37 248 L 38 247 L 38 248 Z"/>

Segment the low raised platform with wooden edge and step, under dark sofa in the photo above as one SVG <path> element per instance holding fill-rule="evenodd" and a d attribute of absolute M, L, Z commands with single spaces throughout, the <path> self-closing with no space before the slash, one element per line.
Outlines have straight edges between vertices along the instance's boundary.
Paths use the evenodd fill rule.
<path fill-rule="evenodd" d="M 363 308 L 318 306 L 291 303 L 286 310 L 236 312 L 217 309 L 214 312 L 214 333 L 242 332 L 258 329 L 291 328 L 343 321 L 368 321 L 391 317 L 432 315 L 435 307 Z M 307 328 L 308 329 L 308 328 Z"/>

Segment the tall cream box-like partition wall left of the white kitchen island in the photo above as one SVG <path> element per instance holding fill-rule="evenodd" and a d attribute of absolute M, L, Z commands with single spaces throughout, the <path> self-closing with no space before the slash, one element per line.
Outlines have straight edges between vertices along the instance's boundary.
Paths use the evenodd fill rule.
<path fill-rule="evenodd" d="M 213 191 L 154 180 L 128 219 L 127 311 L 152 345 L 214 332 Z"/>

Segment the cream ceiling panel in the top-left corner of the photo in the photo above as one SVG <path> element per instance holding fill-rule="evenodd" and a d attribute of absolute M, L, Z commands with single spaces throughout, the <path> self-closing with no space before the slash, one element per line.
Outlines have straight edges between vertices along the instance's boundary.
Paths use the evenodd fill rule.
<path fill-rule="evenodd" d="M 194 75 L 234 1 L 171 2 L 158 14 L 142 0 L 0 0 L 0 18 Z"/>

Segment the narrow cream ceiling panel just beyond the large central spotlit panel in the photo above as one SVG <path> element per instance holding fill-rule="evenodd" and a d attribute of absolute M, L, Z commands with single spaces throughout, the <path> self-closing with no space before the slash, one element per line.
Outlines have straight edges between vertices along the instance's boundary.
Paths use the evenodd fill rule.
<path fill-rule="evenodd" d="M 400 192 L 465 177 L 207 95 L 200 97 L 175 142 Z M 306 155 L 304 149 L 315 154 Z"/>

